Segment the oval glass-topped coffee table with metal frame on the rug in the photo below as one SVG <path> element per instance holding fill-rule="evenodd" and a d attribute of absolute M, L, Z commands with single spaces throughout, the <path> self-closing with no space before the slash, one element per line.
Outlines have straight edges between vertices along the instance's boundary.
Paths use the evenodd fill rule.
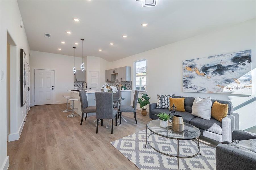
<path fill-rule="evenodd" d="M 149 131 L 151 131 L 152 133 L 150 133 L 149 135 L 147 134 L 147 129 L 149 129 Z M 161 137 L 165 137 L 167 139 L 175 139 L 177 140 L 177 155 L 171 155 L 171 154 L 167 154 L 164 152 L 161 152 L 160 150 L 156 149 L 155 147 L 153 147 L 150 142 L 149 142 L 149 137 L 151 135 L 159 135 Z M 198 154 L 200 154 L 200 146 L 199 146 L 199 136 L 200 136 L 200 131 L 198 128 L 196 128 L 193 125 L 190 125 L 188 123 L 184 123 L 184 131 L 183 132 L 176 132 L 173 131 L 172 128 L 162 128 L 160 126 L 160 120 L 152 120 L 150 122 L 148 122 L 147 127 L 146 127 L 146 144 L 145 144 L 145 148 L 148 145 L 153 148 L 154 150 L 156 150 L 157 152 L 164 154 L 166 156 L 170 156 L 170 157 L 174 157 L 177 158 L 177 163 L 178 163 L 178 169 L 179 169 L 179 158 L 192 158 L 197 156 Z M 197 139 L 194 140 L 194 139 Z M 193 142 L 196 143 L 196 145 L 198 146 L 198 152 L 194 155 L 191 156 L 179 156 L 179 140 L 192 140 Z"/>

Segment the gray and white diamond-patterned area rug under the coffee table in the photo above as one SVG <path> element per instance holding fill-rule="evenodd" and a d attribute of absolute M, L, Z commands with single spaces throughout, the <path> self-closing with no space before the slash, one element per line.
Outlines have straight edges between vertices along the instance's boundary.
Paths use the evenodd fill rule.
<path fill-rule="evenodd" d="M 149 131 L 150 132 L 150 131 Z M 148 133 L 150 134 L 150 133 Z M 158 135 L 149 137 L 150 144 L 161 152 L 177 155 L 177 140 L 166 139 Z M 146 143 L 146 130 L 139 131 L 132 135 L 111 142 L 128 160 L 141 170 L 176 170 L 177 158 L 165 156 Z M 193 158 L 179 158 L 179 168 L 183 170 L 211 169 L 215 170 L 215 148 L 199 143 L 201 155 Z M 198 152 L 197 145 L 191 140 L 179 141 L 179 156 L 191 156 Z"/>

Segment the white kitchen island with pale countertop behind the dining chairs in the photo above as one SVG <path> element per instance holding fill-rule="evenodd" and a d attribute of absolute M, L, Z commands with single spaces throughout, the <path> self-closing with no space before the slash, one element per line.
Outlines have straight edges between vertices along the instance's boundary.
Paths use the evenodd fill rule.
<path fill-rule="evenodd" d="M 80 102 L 80 97 L 78 91 L 70 91 L 70 96 L 73 98 L 78 99 L 77 101 L 74 101 L 74 108 L 77 108 L 76 112 L 80 116 L 82 116 L 82 111 L 81 111 L 81 102 Z M 80 90 L 79 90 L 80 91 Z M 96 106 L 96 101 L 95 101 L 95 93 L 100 92 L 100 91 L 93 91 L 93 90 L 85 90 L 86 91 L 86 96 L 87 96 L 87 101 L 88 101 L 88 106 Z M 88 116 L 96 115 L 96 113 L 88 113 Z M 85 117 L 85 114 L 84 114 Z"/>

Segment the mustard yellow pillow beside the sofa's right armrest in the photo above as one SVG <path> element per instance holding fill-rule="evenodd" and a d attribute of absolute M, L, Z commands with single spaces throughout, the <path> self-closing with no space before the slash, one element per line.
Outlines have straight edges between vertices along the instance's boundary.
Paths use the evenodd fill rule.
<path fill-rule="evenodd" d="M 211 116 L 221 122 L 224 117 L 228 116 L 228 104 L 215 101 L 211 109 Z"/>

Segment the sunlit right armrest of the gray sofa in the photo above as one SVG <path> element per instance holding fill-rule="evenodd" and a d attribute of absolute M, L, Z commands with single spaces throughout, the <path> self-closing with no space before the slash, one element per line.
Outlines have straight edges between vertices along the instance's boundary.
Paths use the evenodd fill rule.
<path fill-rule="evenodd" d="M 232 132 L 239 128 L 239 114 L 232 113 L 221 121 L 222 128 L 222 143 L 229 143 L 232 141 Z"/>

